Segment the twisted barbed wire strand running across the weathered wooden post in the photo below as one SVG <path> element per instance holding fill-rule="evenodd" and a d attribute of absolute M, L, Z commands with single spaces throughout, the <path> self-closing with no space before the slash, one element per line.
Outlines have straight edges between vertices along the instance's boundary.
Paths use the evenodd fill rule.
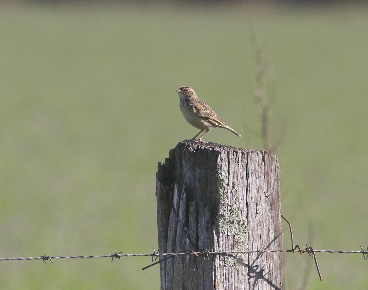
<path fill-rule="evenodd" d="M 263 249 L 259 249 L 259 250 L 252 250 L 252 251 L 209 251 L 208 249 L 202 249 L 200 251 L 192 251 L 192 250 L 183 250 L 181 252 L 172 252 L 172 253 L 160 253 L 159 250 L 156 252 L 155 248 L 153 248 L 153 253 L 151 254 L 121 254 L 122 252 L 117 253 L 116 252 L 116 248 L 115 248 L 115 253 L 114 254 L 110 254 L 110 255 L 80 255 L 80 256 L 39 256 L 39 257 L 28 257 L 28 258 L 24 258 L 24 257 L 19 257 L 19 258 L 0 258 L 0 261 L 14 261 L 14 260 L 42 260 L 43 262 L 45 262 L 47 264 L 47 261 L 50 260 L 52 262 L 52 264 L 54 264 L 53 259 L 83 259 L 83 258 L 111 258 L 111 262 L 114 260 L 114 258 L 120 259 L 121 257 L 147 257 L 147 256 L 151 256 L 152 257 L 152 264 L 148 265 L 144 268 L 142 268 L 142 270 L 145 270 L 153 265 L 159 264 L 167 259 L 176 257 L 178 255 L 195 255 L 196 257 L 198 256 L 202 256 L 205 260 L 209 260 L 209 255 L 229 255 L 229 254 L 250 254 L 250 253 L 258 253 L 259 256 L 262 256 L 264 253 L 279 253 L 279 252 L 299 252 L 301 255 L 304 253 L 308 253 L 308 255 L 310 255 L 312 258 L 314 258 L 315 261 L 315 265 L 316 265 L 316 269 L 318 271 L 318 275 L 319 275 L 319 279 L 322 281 L 322 276 L 321 276 L 321 272 L 319 270 L 318 267 L 318 263 L 317 263 L 317 258 L 315 253 L 316 252 L 321 252 L 321 253 L 346 253 L 346 254 L 363 254 L 363 258 L 364 260 L 368 260 L 368 247 L 367 250 L 364 250 L 362 247 L 361 251 L 342 251 L 342 250 L 315 250 L 312 247 L 309 247 L 308 245 L 306 245 L 306 248 L 304 250 L 302 250 L 300 248 L 299 245 L 294 246 L 294 237 L 293 237 L 293 230 L 291 228 L 291 224 L 290 222 L 283 216 L 281 215 L 281 217 L 286 220 L 286 222 L 289 224 L 289 229 L 290 229 L 290 237 L 291 237 L 291 249 L 289 250 L 267 250 L 267 247 L 270 245 L 268 245 L 267 247 L 264 247 Z M 281 233 L 280 233 L 281 234 Z M 276 238 L 278 238 L 279 235 L 277 235 L 274 240 Z M 366 257 L 367 255 L 367 257 Z M 159 258 L 160 256 L 164 257 L 162 259 L 160 259 L 157 262 L 154 262 L 154 258 L 155 261 L 157 258 Z"/>

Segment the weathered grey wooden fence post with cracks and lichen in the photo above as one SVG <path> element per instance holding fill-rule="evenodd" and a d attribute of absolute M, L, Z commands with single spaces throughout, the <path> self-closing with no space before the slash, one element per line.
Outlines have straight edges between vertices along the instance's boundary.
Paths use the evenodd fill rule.
<path fill-rule="evenodd" d="M 282 249 L 276 155 L 183 141 L 156 178 L 161 253 Z M 282 289 L 282 253 L 177 255 L 160 277 L 161 290 Z"/>

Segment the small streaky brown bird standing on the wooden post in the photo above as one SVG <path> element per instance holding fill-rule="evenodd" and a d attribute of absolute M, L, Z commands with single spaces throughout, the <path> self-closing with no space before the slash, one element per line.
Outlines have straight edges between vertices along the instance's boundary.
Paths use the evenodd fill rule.
<path fill-rule="evenodd" d="M 176 92 L 179 93 L 180 110 L 181 113 L 183 113 L 184 119 L 195 128 L 201 130 L 192 139 L 185 141 L 207 143 L 206 141 L 203 141 L 202 138 L 213 127 L 226 128 L 241 137 L 240 134 L 226 125 L 204 101 L 199 99 L 190 86 L 182 86 Z M 195 139 L 203 131 L 205 131 L 203 135 L 198 140 Z"/>

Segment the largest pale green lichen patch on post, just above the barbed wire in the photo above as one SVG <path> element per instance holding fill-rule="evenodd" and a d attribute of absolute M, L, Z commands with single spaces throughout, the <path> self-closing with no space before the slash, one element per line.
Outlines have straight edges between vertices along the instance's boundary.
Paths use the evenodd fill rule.
<path fill-rule="evenodd" d="M 248 222 L 241 218 L 243 208 L 238 205 L 228 205 L 227 211 L 217 215 L 217 230 L 220 233 L 234 235 L 234 241 L 238 251 L 248 249 Z"/>

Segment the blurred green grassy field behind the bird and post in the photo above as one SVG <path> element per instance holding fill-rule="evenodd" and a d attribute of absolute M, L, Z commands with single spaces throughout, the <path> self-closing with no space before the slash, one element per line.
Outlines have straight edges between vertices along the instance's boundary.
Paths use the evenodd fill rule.
<path fill-rule="evenodd" d="M 0 257 L 157 250 L 155 174 L 198 131 L 189 85 L 234 130 L 259 131 L 249 15 L 269 63 L 282 213 L 294 241 L 367 248 L 367 6 L 0 6 Z M 253 130 L 252 129 L 252 130 Z M 263 149 L 258 133 L 204 138 Z M 309 234 L 313 224 L 314 240 Z M 282 222 L 284 245 L 290 248 Z M 285 289 L 367 289 L 362 254 L 285 254 Z M 149 257 L 0 261 L 0 289 L 159 289 Z"/>

